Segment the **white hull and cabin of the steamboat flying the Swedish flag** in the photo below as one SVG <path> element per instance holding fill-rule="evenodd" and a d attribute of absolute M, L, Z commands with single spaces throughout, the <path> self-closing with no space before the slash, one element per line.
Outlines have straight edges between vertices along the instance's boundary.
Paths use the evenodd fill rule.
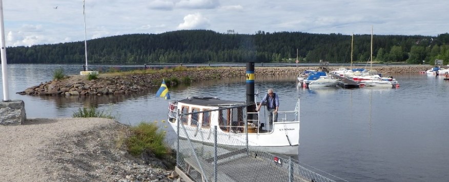
<path fill-rule="evenodd" d="M 279 111 L 278 122 L 274 123 L 257 117 L 260 112 L 247 112 L 247 107 L 245 102 L 189 97 L 170 101 L 168 121 L 176 133 L 180 122 L 180 137 L 201 143 L 214 144 L 213 128 L 217 126 L 220 146 L 244 147 L 248 136 L 248 147 L 252 150 L 298 154 L 299 99 L 295 110 Z"/>

